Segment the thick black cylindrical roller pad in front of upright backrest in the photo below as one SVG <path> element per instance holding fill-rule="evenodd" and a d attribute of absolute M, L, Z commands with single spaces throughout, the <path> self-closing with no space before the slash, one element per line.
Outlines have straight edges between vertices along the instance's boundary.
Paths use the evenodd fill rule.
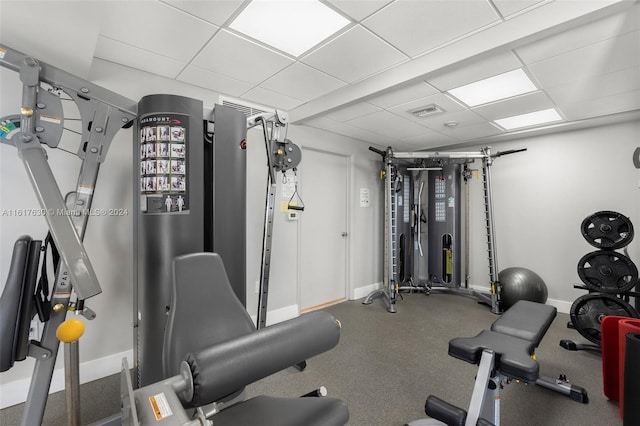
<path fill-rule="evenodd" d="M 313 312 L 185 358 L 193 377 L 192 407 L 217 401 L 250 383 L 338 344 L 340 328 L 327 312 Z"/>

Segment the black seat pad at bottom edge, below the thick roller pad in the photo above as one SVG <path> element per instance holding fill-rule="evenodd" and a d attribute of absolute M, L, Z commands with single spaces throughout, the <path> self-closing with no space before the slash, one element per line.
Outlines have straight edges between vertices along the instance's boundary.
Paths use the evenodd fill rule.
<path fill-rule="evenodd" d="M 349 410 L 334 398 L 257 396 L 225 408 L 211 420 L 216 426 L 333 426 L 345 424 Z"/>

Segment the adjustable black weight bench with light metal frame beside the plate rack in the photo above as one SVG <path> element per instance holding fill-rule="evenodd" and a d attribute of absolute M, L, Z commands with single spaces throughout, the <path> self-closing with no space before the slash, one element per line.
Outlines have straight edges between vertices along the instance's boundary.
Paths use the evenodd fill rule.
<path fill-rule="evenodd" d="M 429 395 L 425 413 L 431 419 L 408 425 L 499 425 L 500 388 L 513 379 L 588 402 L 587 392 L 570 385 L 562 376 L 554 380 L 539 375 L 540 366 L 533 354 L 555 317 L 556 308 L 521 300 L 502 314 L 490 330 L 483 330 L 475 337 L 450 340 L 449 355 L 479 366 L 469 410 Z"/>

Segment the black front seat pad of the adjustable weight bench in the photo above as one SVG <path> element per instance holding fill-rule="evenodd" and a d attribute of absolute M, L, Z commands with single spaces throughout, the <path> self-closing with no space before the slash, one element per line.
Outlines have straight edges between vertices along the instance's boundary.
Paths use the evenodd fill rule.
<path fill-rule="evenodd" d="M 535 383 L 540 366 L 531 358 L 535 345 L 495 331 L 482 330 L 475 337 L 458 337 L 449 341 L 449 355 L 479 364 L 482 352 L 489 349 L 496 354 L 496 368 L 505 376 Z"/>

